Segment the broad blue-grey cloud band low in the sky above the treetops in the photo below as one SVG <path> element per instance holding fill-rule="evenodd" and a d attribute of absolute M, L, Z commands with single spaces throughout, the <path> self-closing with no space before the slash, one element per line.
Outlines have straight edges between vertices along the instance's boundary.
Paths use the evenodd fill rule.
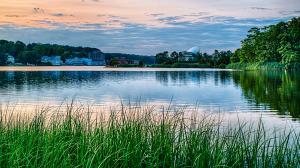
<path fill-rule="evenodd" d="M 168 21 L 176 18 L 165 19 Z M 0 39 L 22 40 L 24 42 L 58 43 L 74 46 L 97 47 L 104 52 L 123 52 L 155 55 L 161 51 L 183 51 L 200 46 L 202 51 L 214 49 L 235 49 L 246 37 L 253 25 L 276 23 L 277 19 L 235 19 L 218 18 L 225 22 L 182 23 L 181 26 L 148 28 L 142 24 L 123 23 L 119 29 L 107 29 L 103 24 L 81 24 L 80 28 L 64 28 L 53 21 L 39 21 L 58 26 L 56 29 L 23 28 L 0 26 Z M 26 34 L 26 37 L 23 35 Z"/>

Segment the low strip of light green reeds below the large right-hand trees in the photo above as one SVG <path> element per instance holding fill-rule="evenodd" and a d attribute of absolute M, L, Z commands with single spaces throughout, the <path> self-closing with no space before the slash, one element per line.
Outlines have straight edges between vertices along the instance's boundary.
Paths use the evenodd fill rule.
<path fill-rule="evenodd" d="M 242 69 L 242 70 L 300 70 L 300 64 L 295 63 L 289 66 L 278 62 L 268 63 L 232 63 L 226 66 L 227 69 Z"/>

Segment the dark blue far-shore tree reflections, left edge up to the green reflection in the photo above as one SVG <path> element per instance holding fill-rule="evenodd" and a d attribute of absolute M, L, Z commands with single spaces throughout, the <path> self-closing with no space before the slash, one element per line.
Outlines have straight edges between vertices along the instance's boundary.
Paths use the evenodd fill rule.
<path fill-rule="evenodd" d="M 157 71 L 157 72 L 126 72 L 126 71 L 45 71 L 45 72 L 0 72 L 0 90 L 9 87 L 16 90 L 24 86 L 41 87 L 79 85 L 82 82 L 99 83 L 103 81 L 125 81 L 153 78 L 163 85 L 188 85 L 206 83 L 215 80 L 222 85 L 231 83 L 231 73 L 225 71 Z"/>

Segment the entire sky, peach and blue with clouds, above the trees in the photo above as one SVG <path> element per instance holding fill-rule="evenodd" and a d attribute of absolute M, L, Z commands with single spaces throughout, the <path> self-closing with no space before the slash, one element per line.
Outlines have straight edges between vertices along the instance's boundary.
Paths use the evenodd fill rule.
<path fill-rule="evenodd" d="M 0 39 L 155 55 L 234 50 L 251 27 L 300 16 L 300 0 L 0 0 Z"/>

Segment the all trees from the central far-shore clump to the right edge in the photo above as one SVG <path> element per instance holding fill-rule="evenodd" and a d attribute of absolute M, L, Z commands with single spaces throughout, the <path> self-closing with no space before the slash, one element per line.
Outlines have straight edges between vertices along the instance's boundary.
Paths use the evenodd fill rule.
<path fill-rule="evenodd" d="M 188 61 L 181 61 L 181 57 L 184 57 L 184 52 L 165 51 L 156 54 L 156 63 L 166 66 L 185 63 L 211 68 L 244 68 L 259 64 L 285 69 L 300 67 L 300 17 L 262 28 L 251 28 L 247 37 L 241 41 L 241 47 L 234 52 L 199 52 Z"/>

